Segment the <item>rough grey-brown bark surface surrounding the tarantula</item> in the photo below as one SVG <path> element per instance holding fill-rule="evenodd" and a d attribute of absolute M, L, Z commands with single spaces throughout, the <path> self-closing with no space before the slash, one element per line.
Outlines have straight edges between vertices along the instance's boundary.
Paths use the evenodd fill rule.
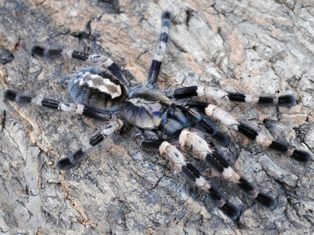
<path fill-rule="evenodd" d="M 206 2 L 206 3 L 204 3 Z M 174 14 L 159 86 L 209 84 L 254 94 L 294 94 L 292 108 L 222 107 L 256 128 L 313 154 L 314 8 L 311 0 L 0 0 L 0 84 L 24 94 L 69 100 L 59 84 L 82 63 L 32 57 L 33 44 L 110 53 L 144 84 L 160 31 Z M 265 210 L 220 179 L 209 181 L 239 205 L 231 221 L 158 156 L 128 136 L 107 141 L 80 165 L 56 161 L 102 126 L 75 117 L 2 103 L 0 233 L 5 234 L 313 234 L 314 164 L 298 164 L 236 133 L 221 149 L 248 180 L 270 192 Z M 264 122 L 265 125 L 262 123 Z"/>

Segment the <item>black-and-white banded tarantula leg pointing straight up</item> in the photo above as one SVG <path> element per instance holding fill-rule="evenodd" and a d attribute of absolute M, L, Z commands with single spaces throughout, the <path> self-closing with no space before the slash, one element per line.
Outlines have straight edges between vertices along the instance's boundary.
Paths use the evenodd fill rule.
<path fill-rule="evenodd" d="M 155 85 L 158 77 L 158 73 L 160 70 L 161 62 L 163 59 L 163 56 L 166 52 L 167 48 L 167 42 L 169 39 L 169 27 L 171 23 L 172 15 L 168 11 L 164 11 L 161 15 L 161 20 L 162 20 L 162 28 L 161 28 L 161 33 L 159 36 L 159 43 L 155 49 L 154 53 L 154 58 L 152 61 L 152 65 L 149 71 L 147 83 Z"/>

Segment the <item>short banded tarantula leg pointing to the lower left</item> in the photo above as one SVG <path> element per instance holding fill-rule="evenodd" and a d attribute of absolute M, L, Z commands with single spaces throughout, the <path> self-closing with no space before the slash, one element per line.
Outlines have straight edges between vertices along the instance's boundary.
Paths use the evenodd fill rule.
<path fill-rule="evenodd" d="M 78 149 L 78 151 L 76 151 L 70 157 L 60 159 L 56 164 L 57 169 L 63 170 L 72 167 L 74 164 L 78 163 L 85 156 L 88 150 L 102 142 L 105 139 L 105 137 L 111 135 L 112 133 L 121 129 L 122 127 L 123 127 L 122 120 L 114 119 L 112 122 L 110 122 L 109 125 L 105 127 L 104 130 L 100 131 L 97 135 L 90 138 L 89 141 L 83 144 L 82 148 Z"/>

